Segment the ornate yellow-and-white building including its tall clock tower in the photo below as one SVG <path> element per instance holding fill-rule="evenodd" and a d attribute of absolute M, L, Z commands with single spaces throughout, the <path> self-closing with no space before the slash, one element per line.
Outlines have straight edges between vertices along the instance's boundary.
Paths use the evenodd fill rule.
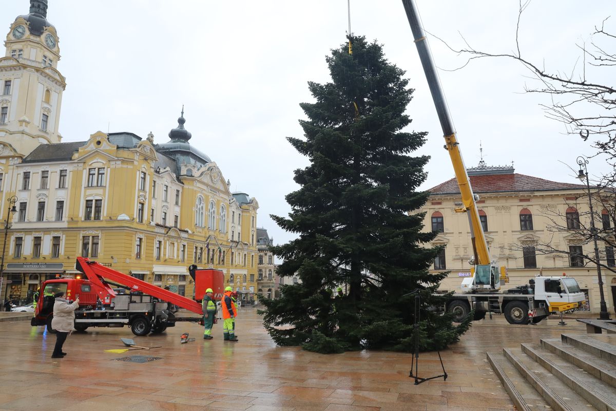
<path fill-rule="evenodd" d="M 46 0 L 30 1 L 0 59 L 0 299 L 28 301 L 41 281 L 77 274 L 75 258 L 86 256 L 186 296 L 188 266 L 214 267 L 254 301 L 259 205 L 230 192 L 189 144 L 183 111 L 166 143 L 100 131 L 60 142 L 66 83 L 46 12 Z"/>

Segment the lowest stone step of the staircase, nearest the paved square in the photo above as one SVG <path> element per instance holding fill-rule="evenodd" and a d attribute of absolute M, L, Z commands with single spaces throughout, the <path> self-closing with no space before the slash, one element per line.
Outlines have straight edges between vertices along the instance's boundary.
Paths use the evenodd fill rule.
<path fill-rule="evenodd" d="M 540 396 L 502 352 L 486 352 L 486 357 L 496 376 L 505 387 L 509 398 L 518 411 L 537 411 L 549 409 L 548 402 Z"/>

